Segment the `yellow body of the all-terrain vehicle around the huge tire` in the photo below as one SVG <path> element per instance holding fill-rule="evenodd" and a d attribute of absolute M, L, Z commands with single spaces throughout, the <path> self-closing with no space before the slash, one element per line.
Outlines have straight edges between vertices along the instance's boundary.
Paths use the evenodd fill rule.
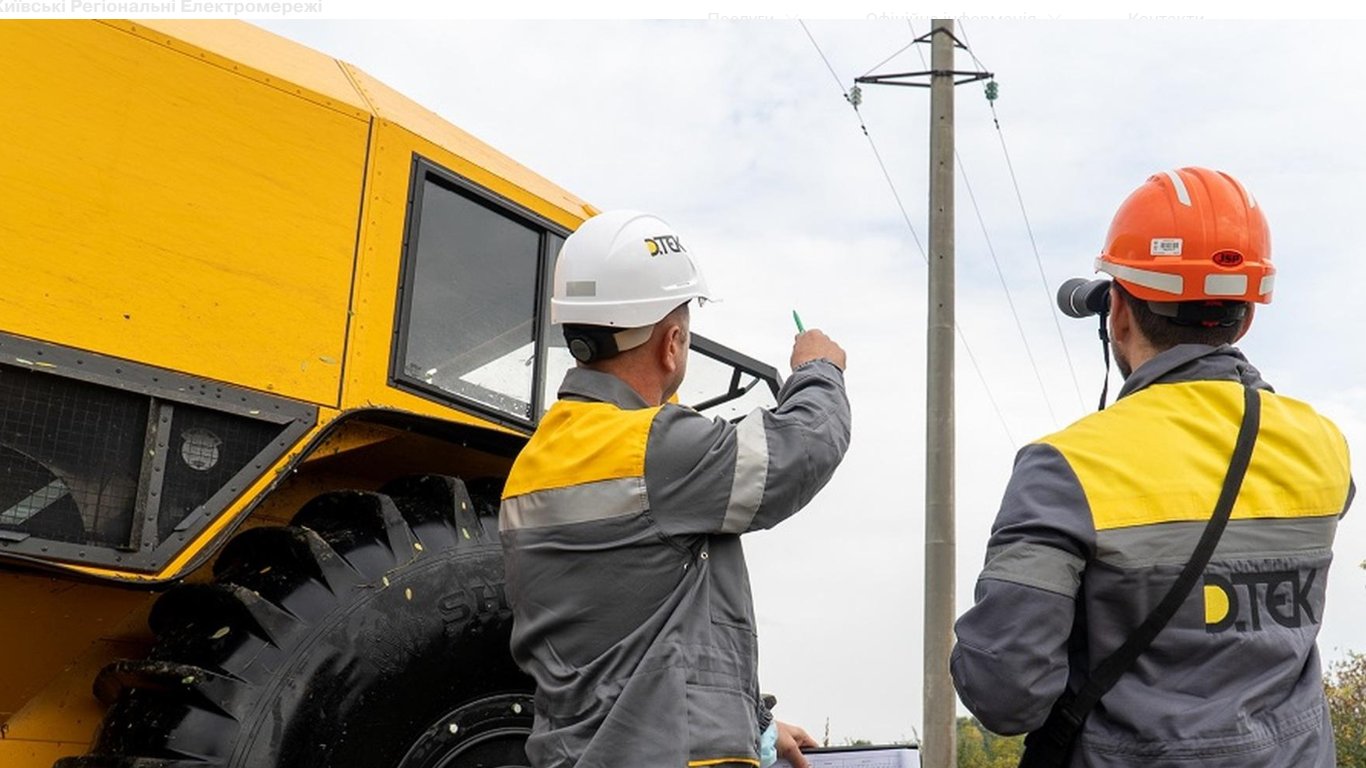
<path fill-rule="evenodd" d="M 0 470 L 48 473 L 0 497 L 0 765 L 133 765 L 133 742 L 111 732 L 101 738 L 113 752 L 72 756 L 92 749 L 107 705 L 127 707 L 130 690 L 148 698 L 202 683 L 173 676 L 183 663 L 116 661 L 165 644 L 148 629 L 157 599 L 214 582 L 231 536 L 273 526 L 298 537 L 295 511 L 337 488 L 505 474 L 545 398 L 550 261 L 593 209 L 358 68 L 246 23 L 0 22 Z M 493 221 L 501 230 L 489 238 L 516 249 L 440 242 L 463 231 L 436 231 L 443 206 L 462 225 Z M 481 276 L 443 280 L 449 268 L 419 251 L 454 253 Z M 505 298 L 514 277 L 526 283 L 508 292 L 520 318 L 452 353 L 459 374 L 441 370 L 459 361 L 429 365 L 429 338 L 463 321 L 459 305 L 496 316 L 481 294 Z M 61 443 L 71 429 L 85 430 Z M 238 432 L 249 448 L 234 452 Z M 82 474 L 61 459 L 81 451 L 112 463 Z M 221 480 L 205 481 L 214 471 Z M 208 485 L 175 491 L 176 473 Z M 171 503 L 173 491 L 183 499 Z M 493 558 L 489 495 L 475 519 L 459 517 L 460 493 L 440 523 L 455 540 L 482 526 L 478 556 Z M 389 545 L 395 530 L 417 532 L 399 570 L 429 555 L 422 518 L 402 511 L 402 525 L 388 507 L 382 518 Z M 343 536 L 310 526 L 309 543 L 318 530 L 346 555 Z M 254 556 L 238 549 L 228 571 Z M 389 586 L 355 559 L 365 584 L 352 589 Z M 255 600 L 240 582 L 216 588 Z M 448 626 L 503 619 L 492 593 L 460 594 L 434 608 Z M 493 693 L 503 698 L 484 707 L 519 715 L 512 730 L 525 734 L 525 691 Z M 240 743 L 219 754 L 179 731 L 164 741 L 141 754 L 164 763 L 148 765 L 261 764 Z"/>

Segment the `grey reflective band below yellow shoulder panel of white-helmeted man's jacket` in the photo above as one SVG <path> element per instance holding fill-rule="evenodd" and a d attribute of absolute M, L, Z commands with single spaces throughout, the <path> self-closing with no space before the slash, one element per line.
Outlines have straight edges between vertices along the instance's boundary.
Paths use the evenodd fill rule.
<path fill-rule="evenodd" d="M 522 530 L 635 515 L 649 508 L 645 478 L 622 477 L 504 499 L 499 530 Z"/>

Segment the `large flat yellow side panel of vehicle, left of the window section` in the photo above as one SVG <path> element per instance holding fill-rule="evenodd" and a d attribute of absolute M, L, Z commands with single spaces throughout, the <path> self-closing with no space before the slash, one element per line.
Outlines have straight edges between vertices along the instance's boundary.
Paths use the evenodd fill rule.
<path fill-rule="evenodd" d="M 336 403 L 367 122 L 97 22 L 0 70 L 0 328 Z"/>

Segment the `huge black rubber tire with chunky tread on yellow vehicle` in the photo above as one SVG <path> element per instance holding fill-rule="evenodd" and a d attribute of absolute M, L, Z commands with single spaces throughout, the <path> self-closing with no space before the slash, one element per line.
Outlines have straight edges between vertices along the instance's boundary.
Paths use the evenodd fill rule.
<path fill-rule="evenodd" d="M 154 604 L 145 660 L 96 681 L 90 754 L 57 768 L 526 765 L 497 488 L 415 477 L 309 502 Z"/>

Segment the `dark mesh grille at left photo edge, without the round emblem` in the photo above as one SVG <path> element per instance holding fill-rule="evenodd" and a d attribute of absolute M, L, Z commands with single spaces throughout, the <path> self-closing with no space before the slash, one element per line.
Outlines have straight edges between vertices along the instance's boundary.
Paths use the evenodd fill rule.
<path fill-rule="evenodd" d="M 0 365 L 0 532 L 127 547 L 146 426 L 146 398 Z"/>

